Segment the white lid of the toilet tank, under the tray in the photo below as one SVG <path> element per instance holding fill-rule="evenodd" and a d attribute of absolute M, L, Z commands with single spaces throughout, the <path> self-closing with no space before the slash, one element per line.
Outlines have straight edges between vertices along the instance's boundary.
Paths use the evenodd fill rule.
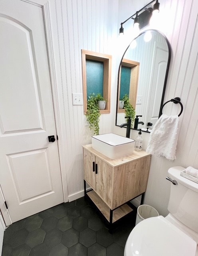
<path fill-rule="evenodd" d="M 198 192 L 198 183 L 180 176 L 180 172 L 183 170 L 185 170 L 185 168 L 182 166 L 174 166 L 168 169 L 168 175 L 183 186 Z"/>

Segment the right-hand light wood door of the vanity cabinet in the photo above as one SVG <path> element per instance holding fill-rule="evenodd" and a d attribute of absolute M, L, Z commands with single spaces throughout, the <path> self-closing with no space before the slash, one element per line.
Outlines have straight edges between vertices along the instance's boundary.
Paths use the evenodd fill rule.
<path fill-rule="evenodd" d="M 96 157 L 96 192 L 112 208 L 113 167 Z"/>

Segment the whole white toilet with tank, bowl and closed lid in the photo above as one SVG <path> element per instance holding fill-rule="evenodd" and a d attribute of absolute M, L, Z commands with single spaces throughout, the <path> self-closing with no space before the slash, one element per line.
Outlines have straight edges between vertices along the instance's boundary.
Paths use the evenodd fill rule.
<path fill-rule="evenodd" d="M 182 170 L 168 170 L 178 183 L 171 183 L 170 213 L 137 224 L 127 239 L 125 256 L 198 256 L 198 184 L 180 176 Z"/>

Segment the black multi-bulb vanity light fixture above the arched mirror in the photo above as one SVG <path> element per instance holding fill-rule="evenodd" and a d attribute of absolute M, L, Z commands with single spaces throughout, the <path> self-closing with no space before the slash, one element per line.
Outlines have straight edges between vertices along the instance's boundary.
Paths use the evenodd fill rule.
<path fill-rule="evenodd" d="M 147 8 L 153 2 L 155 2 L 155 4 L 153 5 L 153 8 L 152 7 Z M 142 22 L 141 22 L 141 17 L 140 16 L 145 16 L 145 15 L 143 15 L 144 12 L 148 12 L 149 14 L 147 15 L 147 19 L 150 20 L 152 18 L 152 20 L 154 21 L 155 19 L 153 19 L 153 17 L 151 17 L 151 16 L 155 16 L 155 14 L 159 12 L 159 7 L 160 7 L 160 3 L 158 2 L 158 0 L 152 0 L 150 3 L 148 3 L 143 8 L 141 8 L 139 11 L 137 11 L 135 14 L 133 14 L 131 17 L 129 17 L 127 20 L 121 22 L 121 28 L 119 29 L 119 35 L 124 34 L 123 24 L 125 22 L 127 22 L 128 20 L 130 20 L 130 19 L 134 20 L 133 28 L 135 30 L 135 34 L 139 33 L 139 26 L 141 24 L 142 24 L 141 28 L 143 28 L 144 26 L 149 24 L 148 20 L 146 21 L 146 24 L 145 24 L 145 21 L 143 21 L 144 17 L 142 17 Z M 135 18 L 134 18 L 134 16 L 135 16 Z"/>

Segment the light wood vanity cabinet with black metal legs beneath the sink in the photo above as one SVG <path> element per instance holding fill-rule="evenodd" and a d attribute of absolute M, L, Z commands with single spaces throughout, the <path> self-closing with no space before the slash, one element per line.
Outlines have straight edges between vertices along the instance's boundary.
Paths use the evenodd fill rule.
<path fill-rule="evenodd" d="M 134 151 L 133 154 L 111 159 L 83 146 L 84 190 L 105 216 L 110 227 L 133 211 L 129 201 L 144 194 L 150 168 L 150 154 Z M 92 188 L 86 192 L 86 183 Z"/>

